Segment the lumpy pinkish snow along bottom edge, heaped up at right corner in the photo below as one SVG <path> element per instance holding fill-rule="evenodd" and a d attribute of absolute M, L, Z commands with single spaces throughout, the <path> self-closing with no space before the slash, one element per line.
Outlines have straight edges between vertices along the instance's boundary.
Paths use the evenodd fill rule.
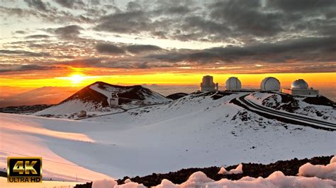
<path fill-rule="evenodd" d="M 335 159 L 335 157 L 334 157 Z M 316 169 L 306 168 L 307 163 L 299 169 L 299 175 L 301 170 L 305 172 L 300 176 L 285 176 L 283 172 L 276 171 L 273 172 L 269 177 L 242 177 L 240 180 L 228 180 L 223 178 L 215 182 L 210 178 L 206 177 L 203 172 L 195 172 L 192 174 L 189 179 L 182 184 L 173 184 L 169 180 L 162 180 L 161 184 L 157 187 L 335 187 L 335 168 L 328 167 L 330 165 L 335 165 L 332 163 L 333 160 L 330 160 L 330 164 L 324 165 L 313 165 Z M 324 167 L 324 168 L 322 168 Z M 315 175 L 317 177 L 313 177 Z M 326 179 L 326 180 L 324 180 Z"/>

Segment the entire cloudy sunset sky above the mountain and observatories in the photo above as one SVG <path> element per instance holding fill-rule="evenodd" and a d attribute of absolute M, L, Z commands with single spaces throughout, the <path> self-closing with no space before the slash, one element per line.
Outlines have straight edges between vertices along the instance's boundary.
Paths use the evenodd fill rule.
<path fill-rule="evenodd" d="M 305 78 L 336 98 L 335 8 L 335 0 L 1 0 L 0 105 L 94 81 L 197 88 L 208 74 L 252 88 L 266 76 L 284 87 Z"/>

